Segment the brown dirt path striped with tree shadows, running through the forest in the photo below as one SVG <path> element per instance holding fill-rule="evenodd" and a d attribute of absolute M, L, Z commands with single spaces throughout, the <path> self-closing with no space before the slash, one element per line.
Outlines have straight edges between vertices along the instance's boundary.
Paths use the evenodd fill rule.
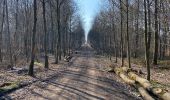
<path fill-rule="evenodd" d="M 53 77 L 5 96 L 19 100 L 137 100 L 114 74 L 101 71 L 103 62 L 91 50 L 78 52 Z"/>

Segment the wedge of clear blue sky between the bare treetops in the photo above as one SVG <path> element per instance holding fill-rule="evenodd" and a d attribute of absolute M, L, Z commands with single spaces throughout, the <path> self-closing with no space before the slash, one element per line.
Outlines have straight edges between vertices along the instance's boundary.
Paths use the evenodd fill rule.
<path fill-rule="evenodd" d="M 101 0 L 74 0 L 78 6 L 78 11 L 81 16 L 83 28 L 85 31 L 86 41 L 87 36 L 92 28 L 93 21 L 101 9 Z"/>

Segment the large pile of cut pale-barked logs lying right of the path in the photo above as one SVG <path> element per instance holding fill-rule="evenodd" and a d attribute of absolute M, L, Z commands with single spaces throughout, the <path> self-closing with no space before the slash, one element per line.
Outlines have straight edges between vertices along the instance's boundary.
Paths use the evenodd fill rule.
<path fill-rule="evenodd" d="M 111 71 L 114 71 L 125 83 L 135 87 L 144 100 L 170 100 L 170 93 L 167 90 L 154 87 L 147 79 L 140 77 L 138 71 L 134 69 L 112 67 Z"/>

